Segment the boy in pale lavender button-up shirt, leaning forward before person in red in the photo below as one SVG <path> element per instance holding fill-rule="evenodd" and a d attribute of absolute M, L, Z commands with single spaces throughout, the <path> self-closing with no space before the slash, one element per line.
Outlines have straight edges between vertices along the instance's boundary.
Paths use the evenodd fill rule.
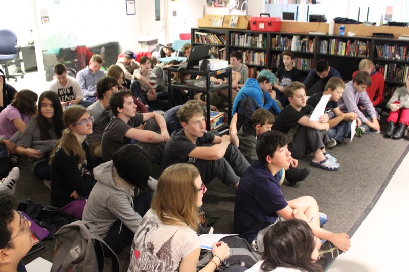
<path fill-rule="evenodd" d="M 375 131 L 380 131 L 378 114 L 366 92 L 370 85 L 371 77 L 369 74 L 364 71 L 357 72 L 354 79 L 345 85 L 343 97 L 340 98 L 338 106 L 344 113 L 355 112 L 358 115 L 358 127 L 363 123 Z M 358 103 L 362 105 L 362 111 L 359 110 Z"/>

